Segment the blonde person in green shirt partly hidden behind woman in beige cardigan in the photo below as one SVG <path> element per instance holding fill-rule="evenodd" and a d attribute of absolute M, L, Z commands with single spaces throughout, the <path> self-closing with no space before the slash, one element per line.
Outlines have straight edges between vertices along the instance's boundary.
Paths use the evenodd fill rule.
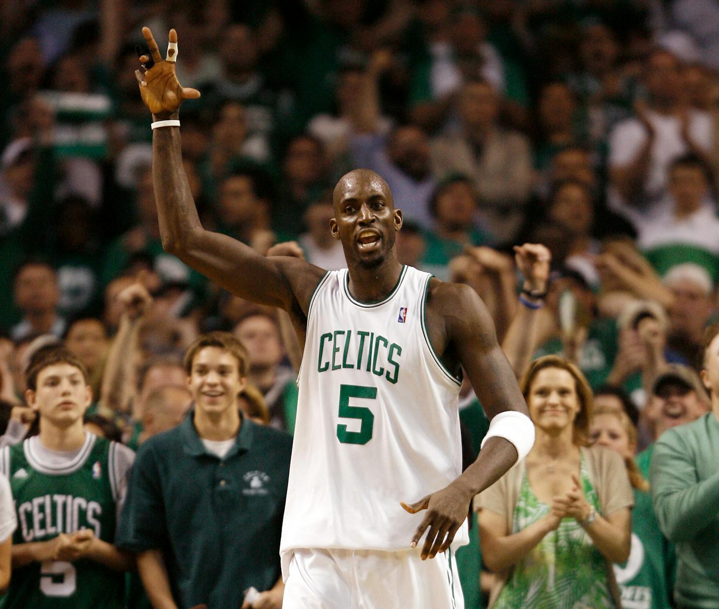
<path fill-rule="evenodd" d="M 636 427 L 626 412 L 605 406 L 592 417 L 590 440 L 594 446 L 615 450 L 624 459 L 634 489 L 631 553 L 614 573 L 622 606 L 629 609 L 669 609 L 669 588 L 674 580 L 674 547 L 659 530 L 651 506 L 649 483 L 641 474 L 634 454 Z"/>

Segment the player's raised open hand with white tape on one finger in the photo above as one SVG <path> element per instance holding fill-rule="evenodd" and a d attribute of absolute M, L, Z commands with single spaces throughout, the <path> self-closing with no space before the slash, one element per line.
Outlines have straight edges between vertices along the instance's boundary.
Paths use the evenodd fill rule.
<path fill-rule="evenodd" d="M 142 35 L 145 37 L 147 47 L 150 48 L 152 61 L 155 63 L 152 68 L 147 68 L 150 58 L 142 55 L 139 60 L 142 62 L 139 69 L 135 70 L 135 78 L 139 84 L 139 93 L 145 106 L 150 108 L 150 112 L 158 117 L 170 116 L 177 112 L 180 104 L 186 99 L 197 99 L 200 92 L 197 89 L 186 88 L 180 85 L 178 77 L 175 75 L 175 61 L 173 51 L 168 51 L 168 60 L 163 60 L 160 55 L 160 49 L 157 48 L 157 42 L 152 37 L 149 27 L 142 28 Z M 174 29 L 170 29 L 168 35 L 170 42 L 178 41 L 178 34 Z M 170 61 L 172 60 L 172 61 Z"/>

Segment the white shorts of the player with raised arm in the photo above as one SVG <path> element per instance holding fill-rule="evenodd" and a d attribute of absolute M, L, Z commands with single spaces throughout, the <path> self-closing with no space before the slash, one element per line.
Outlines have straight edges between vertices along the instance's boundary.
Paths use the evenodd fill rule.
<path fill-rule="evenodd" d="M 464 609 L 454 552 L 296 549 L 283 609 Z"/>

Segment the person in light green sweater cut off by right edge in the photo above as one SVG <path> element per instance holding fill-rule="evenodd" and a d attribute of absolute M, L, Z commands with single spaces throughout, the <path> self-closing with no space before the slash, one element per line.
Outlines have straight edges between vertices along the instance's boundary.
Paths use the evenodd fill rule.
<path fill-rule="evenodd" d="M 677 547 L 679 608 L 719 606 L 719 326 L 707 333 L 702 381 L 712 412 L 668 429 L 651 457 L 659 527 Z"/>

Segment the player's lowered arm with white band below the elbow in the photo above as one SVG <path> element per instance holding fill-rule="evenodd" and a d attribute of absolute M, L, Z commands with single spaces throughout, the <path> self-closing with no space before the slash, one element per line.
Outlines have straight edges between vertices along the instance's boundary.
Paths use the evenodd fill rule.
<path fill-rule="evenodd" d="M 492 317 L 477 293 L 464 284 L 433 280 L 426 319 L 429 339 L 446 367 L 459 370 L 461 364 L 491 419 L 502 413 L 516 413 L 516 420 L 510 426 L 526 430 L 524 444 L 531 447 L 534 434 L 527 405 L 514 371 L 497 342 Z M 403 503 L 410 513 L 427 510 L 415 531 L 412 547 L 429 529 L 422 557 L 433 558 L 437 552 L 444 552 L 467 518 L 472 498 L 498 480 L 516 463 L 518 456 L 515 445 L 493 433 L 490 424 L 480 455 L 462 475 L 411 506 Z"/>

